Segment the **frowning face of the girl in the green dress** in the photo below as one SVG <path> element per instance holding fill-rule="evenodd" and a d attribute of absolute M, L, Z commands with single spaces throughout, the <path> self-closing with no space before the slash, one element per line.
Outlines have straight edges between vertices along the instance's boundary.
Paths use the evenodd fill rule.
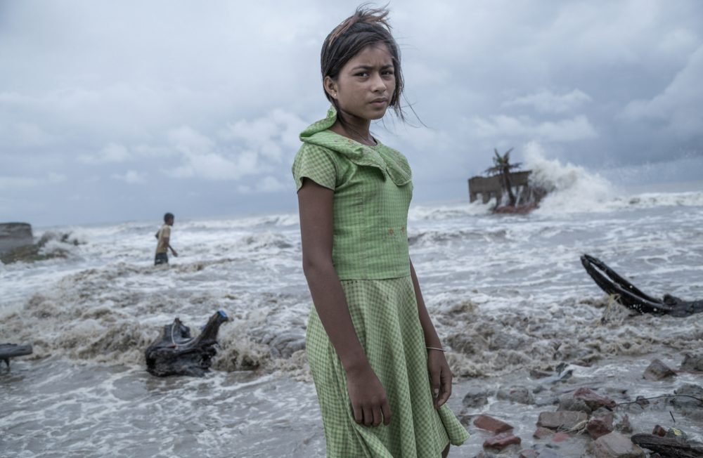
<path fill-rule="evenodd" d="M 347 62 L 337 80 L 325 77 L 325 91 L 351 122 L 368 122 L 385 114 L 395 91 L 393 59 L 382 43 L 363 48 Z"/>

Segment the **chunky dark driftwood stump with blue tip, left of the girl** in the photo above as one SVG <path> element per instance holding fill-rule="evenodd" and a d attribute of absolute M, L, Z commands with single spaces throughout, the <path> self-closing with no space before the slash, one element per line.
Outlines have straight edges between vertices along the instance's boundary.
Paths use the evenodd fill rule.
<path fill-rule="evenodd" d="M 198 337 L 191 336 L 191 328 L 176 318 L 164 326 L 161 336 L 146 349 L 146 370 L 157 377 L 191 375 L 202 377 L 212 365 L 217 353 L 217 332 L 228 321 L 222 310 L 207 321 Z"/>

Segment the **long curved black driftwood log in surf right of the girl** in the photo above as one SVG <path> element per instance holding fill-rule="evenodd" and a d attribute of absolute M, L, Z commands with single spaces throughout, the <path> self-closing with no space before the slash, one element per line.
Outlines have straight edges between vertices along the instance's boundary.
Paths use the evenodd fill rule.
<path fill-rule="evenodd" d="M 641 292 L 606 263 L 588 254 L 581 256 L 581 264 L 600 289 L 614 296 L 619 303 L 631 310 L 674 317 L 687 317 L 703 312 L 703 301 L 684 301 L 670 294 L 664 294 L 662 299 L 656 299 Z"/>

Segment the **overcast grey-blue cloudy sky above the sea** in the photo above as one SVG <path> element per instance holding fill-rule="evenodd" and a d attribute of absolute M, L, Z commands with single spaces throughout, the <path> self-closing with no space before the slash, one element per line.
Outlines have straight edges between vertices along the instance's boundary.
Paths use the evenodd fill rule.
<path fill-rule="evenodd" d="M 295 211 L 324 116 L 324 37 L 350 1 L 0 0 L 0 221 Z M 394 0 L 425 126 L 372 131 L 415 202 L 467 197 L 494 148 L 631 183 L 703 172 L 703 2 Z M 419 127 L 416 127 L 419 126 Z"/>

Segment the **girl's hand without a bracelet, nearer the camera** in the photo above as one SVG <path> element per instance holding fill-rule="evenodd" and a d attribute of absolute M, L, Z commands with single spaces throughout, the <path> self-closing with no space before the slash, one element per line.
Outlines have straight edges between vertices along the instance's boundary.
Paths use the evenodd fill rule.
<path fill-rule="evenodd" d="M 366 426 L 390 424 L 391 407 L 386 391 L 369 365 L 347 372 L 347 390 L 356 423 Z"/>

